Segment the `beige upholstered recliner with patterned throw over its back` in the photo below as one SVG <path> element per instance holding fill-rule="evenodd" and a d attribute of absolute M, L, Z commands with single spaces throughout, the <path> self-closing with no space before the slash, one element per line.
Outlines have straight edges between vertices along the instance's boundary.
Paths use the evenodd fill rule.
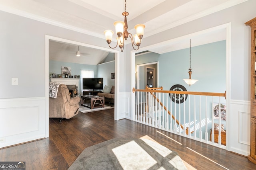
<path fill-rule="evenodd" d="M 78 114 L 80 97 L 70 98 L 68 87 L 65 84 L 59 84 L 57 87 L 50 89 L 49 82 L 49 117 L 60 118 L 60 121 L 70 119 Z M 58 88 L 58 90 L 56 90 Z M 53 96 L 52 91 L 57 91 Z"/>

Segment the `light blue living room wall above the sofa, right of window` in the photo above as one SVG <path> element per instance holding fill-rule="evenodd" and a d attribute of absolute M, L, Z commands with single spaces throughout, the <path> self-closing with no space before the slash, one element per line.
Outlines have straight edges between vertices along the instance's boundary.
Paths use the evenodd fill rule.
<path fill-rule="evenodd" d="M 115 79 L 111 79 L 111 73 L 115 72 L 115 62 L 108 62 L 97 65 L 98 77 L 103 77 L 103 85 L 114 86 Z"/>

